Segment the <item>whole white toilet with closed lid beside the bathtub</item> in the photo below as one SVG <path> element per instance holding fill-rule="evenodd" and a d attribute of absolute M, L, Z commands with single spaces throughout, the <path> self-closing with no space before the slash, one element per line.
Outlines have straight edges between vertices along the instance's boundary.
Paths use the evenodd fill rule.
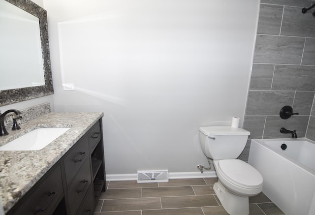
<path fill-rule="evenodd" d="M 213 188 L 230 215 L 249 215 L 249 196 L 262 191 L 263 179 L 250 164 L 236 159 L 244 150 L 250 132 L 231 126 L 199 128 L 203 153 L 213 159 L 219 181 Z"/>

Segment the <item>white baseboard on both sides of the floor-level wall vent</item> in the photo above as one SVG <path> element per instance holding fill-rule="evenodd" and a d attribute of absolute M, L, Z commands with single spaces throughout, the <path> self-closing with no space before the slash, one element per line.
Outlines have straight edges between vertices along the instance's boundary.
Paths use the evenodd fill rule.
<path fill-rule="evenodd" d="M 210 172 L 169 172 L 169 179 L 198 179 L 198 178 L 216 178 L 215 171 Z M 106 174 L 106 181 L 137 181 L 138 175 L 134 174 Z"/>

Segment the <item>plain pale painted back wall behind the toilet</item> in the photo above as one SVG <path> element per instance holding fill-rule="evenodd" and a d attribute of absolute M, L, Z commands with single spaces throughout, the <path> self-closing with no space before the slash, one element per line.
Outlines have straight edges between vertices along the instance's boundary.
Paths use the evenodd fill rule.
<path fill-rule="evenodd" d="M 43 1 L 55 110 L 104 112 L 108 175 L 197 172 L 198 127 L 244 118 L 259 0 Z"/>

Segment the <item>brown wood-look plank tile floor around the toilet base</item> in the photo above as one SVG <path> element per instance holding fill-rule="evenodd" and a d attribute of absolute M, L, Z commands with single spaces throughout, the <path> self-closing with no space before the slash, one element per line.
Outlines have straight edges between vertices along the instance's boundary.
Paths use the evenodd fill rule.
<path fill-rule="evenodd" d="M 228 215 L 213 190 L 217 178 L 167 183 L 107 182 L 94 215 Z M 250 215 L 284 215 L 263 193 L 250 197 Z"/>

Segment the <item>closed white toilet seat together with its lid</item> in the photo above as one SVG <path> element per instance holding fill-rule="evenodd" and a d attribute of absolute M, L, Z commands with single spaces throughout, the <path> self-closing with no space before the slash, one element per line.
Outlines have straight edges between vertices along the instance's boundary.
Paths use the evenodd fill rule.
<path fill-rule="evenodd" d="M 262 176 L 255 168 L 243 160 L 214 160 L 214 164 L 219 180 L 232 193 L 252 196 L 262 191 Z"/>

